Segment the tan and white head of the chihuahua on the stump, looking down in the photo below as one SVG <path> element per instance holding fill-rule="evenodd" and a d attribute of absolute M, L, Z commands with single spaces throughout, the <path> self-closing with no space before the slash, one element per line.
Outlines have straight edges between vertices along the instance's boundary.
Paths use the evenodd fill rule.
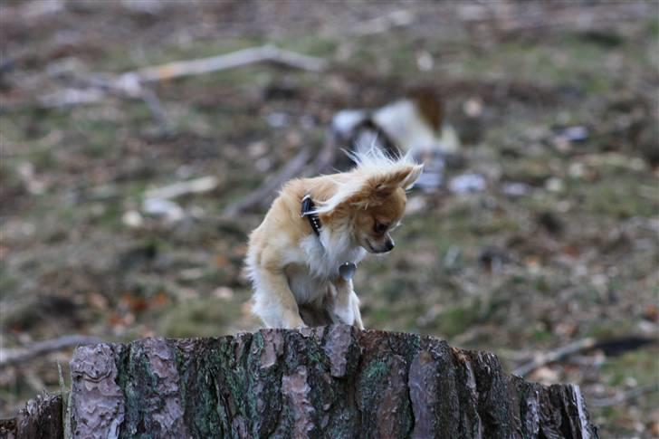
<path fill-rule="evenodd" d="M 400 223 L 406 206 L 406 189 L 421 175 L 422 165 L 407 157 L 392 159 L 356 157 L 358 167 L 326 207 L 330 224 L 348 220 L 354 243 L 369 253 L 394 248 L 391 231 Z"/>

